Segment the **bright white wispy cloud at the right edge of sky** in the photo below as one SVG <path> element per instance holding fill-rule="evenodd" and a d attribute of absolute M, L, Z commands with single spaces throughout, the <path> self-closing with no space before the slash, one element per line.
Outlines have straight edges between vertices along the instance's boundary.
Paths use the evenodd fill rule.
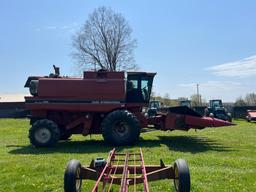
<path fill-rule="evenodd" d="M 256 75 L 256 55 L 207 68 L 218 76 L 248 77 Z"/>

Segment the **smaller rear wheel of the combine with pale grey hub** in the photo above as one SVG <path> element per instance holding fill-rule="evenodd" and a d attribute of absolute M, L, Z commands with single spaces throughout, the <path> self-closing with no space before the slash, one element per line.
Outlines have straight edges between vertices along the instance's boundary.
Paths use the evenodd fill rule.
<path fill-rule="evenodd" d="M 58 125 L 51 120 L 37 120 L 29 130 L 30 143 L 36 147 L 54 146 L 60 138 Z"/>

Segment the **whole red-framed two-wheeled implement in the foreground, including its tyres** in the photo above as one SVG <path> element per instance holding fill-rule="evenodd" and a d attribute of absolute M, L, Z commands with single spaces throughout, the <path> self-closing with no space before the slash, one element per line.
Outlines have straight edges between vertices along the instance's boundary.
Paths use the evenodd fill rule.
<path fill-rule="evenodd" d="M 141 149 L 138 153 L 117 153 L 113 149 L 107 160 L 96 158 L 89 167 L 81 166 L 78 160 L 69 161 L 64 174 L 64 191 L 80 192 L 82 180 L 94 180 L 94 187 L 85 191 L 149 192 L 149 182 L 161 179 L 173 179 L 177 192 L 190 191 L 190 173 L 185 160 L 177 159 L 173 166 L 166 166 L 162 160 L 160 165 L 145 165 Z"/>

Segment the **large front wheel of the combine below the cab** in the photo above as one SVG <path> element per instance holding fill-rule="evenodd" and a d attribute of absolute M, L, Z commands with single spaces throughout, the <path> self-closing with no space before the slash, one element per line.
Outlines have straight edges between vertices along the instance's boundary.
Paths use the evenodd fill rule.
<path fill-rule="evenodd" d="M 139 140 L 140 123 L 127 110 L 109 113 L 102 121 L 102 135 L 107 143 L 113 145 L 132 145 Z"/>

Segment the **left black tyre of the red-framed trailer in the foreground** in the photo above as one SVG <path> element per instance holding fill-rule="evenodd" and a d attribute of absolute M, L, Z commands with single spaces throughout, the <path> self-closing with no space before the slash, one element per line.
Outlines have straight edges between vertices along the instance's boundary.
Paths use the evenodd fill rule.
<path fill-rule="evenodd" d="M 78 160 L 69 161 L 64 174 L 64 191 L 80 192 L 82 188 L 82 179 L 80 177 L 81 164 Z"/>

